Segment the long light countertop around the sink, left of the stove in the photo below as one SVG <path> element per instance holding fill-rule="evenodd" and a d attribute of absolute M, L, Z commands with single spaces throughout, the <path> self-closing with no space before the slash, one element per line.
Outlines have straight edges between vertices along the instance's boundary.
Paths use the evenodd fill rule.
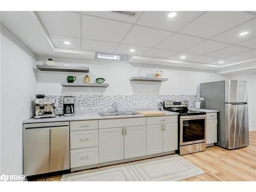
<path fill-rule="evenodd" d="M 169 111 L 161 111 L 161 112 L 165 112 L 165 115 L 179 115 L 179 113 L 176 113 L 176 112 L 169 112 Z M 58 116 L 57 115 L 56 117 L 51 117 L 51 118 L 40 118 L 40 119 L 30 118 L 30 119 L 24 120 L 23 123 L 41 123 L 41 122 L 57 122 L 57 121 L 78 121 L 78 120 L 93 120 L 93 119 L 117 119 L 117 118 L 145 117 L 142 114 L 101 117 L 101 116 L 99 116 L 98 113 L 103 113 L 103 112 L 87 111 L 84 113 L 79 112 L 79 113 L 75 114 L 74 116 Z"/>

